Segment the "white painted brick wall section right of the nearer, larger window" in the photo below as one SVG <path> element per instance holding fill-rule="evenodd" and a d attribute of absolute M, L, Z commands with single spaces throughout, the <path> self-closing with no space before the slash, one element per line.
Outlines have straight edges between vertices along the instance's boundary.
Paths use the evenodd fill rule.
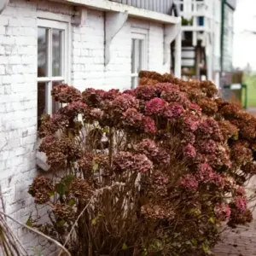
<path fill-rule="evenodd" d="M 131 18 L 113 38 L 110 47 L 111 60 L 105 66 L 104 14 L 89 10 L 85 24 L 80 27 L 73 26 L 72 84 L 80 90 L 91 86 L 104 90 L 130 89 L 131 31 L 133 28 L 140 28 L 148 33 L 148 70 L 160 73 L 170 72 L 170 62 L 163 65 L 163 26 Z"/>

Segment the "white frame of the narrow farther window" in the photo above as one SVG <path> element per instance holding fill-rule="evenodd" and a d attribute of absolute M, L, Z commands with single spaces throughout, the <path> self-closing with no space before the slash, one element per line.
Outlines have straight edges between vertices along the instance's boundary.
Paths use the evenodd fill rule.
<path fill-rule="evenodd" d="M 142 70 L 143 69 L 147 69 L 148 67 L 148 32 L 145 30 L 140 30 L 140 29 L 133 29 L 131 31 L 131 45 L 132 45 L 132 40 L 133 39 L 138 39 L 138 40 L 142 40 L 142 55 L 141 55 L 141 62 L 142 62 Z M 132 47 L 132 46 L 131 46 Z M 136 50 L 136 49 L 135 49 Z M 132 51 L 132 48 L 131 48 Z M 132 53 L 131 53 L 132 54 Z M 135 53 L 135 65 L 137 65 L 138 63 L 138 58 L 139 58 L 139 54 Z M 132 65 L 132 56 L 131 56 L 131 65 Z M 135 67 L 134 70 L 137 70 L 137 72 L 132 73 L 131 70 L 131 89 L 134 89 L 136 87 L 136 84 L 138 84 L 138 67 Z M 134 81 L 134 82 L 133 82 Z"/>

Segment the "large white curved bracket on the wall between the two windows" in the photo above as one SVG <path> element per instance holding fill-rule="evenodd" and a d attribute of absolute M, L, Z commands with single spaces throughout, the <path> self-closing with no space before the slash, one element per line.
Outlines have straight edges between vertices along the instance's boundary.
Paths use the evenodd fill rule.
<path fill-rule="evenodd" d="M 113 38 L 125 25 L 128 19 L 128 11 L 124 13 L 106 13 L 105 20 L 105 65 L 107 66 L 110 61 L 110 45 Z"/>

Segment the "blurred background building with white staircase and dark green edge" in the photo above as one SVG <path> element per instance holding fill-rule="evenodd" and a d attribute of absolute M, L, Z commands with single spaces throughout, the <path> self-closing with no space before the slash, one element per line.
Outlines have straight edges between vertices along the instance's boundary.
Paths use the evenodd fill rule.
<path fill-rule="evenodd" d="M 183 79 L 210 79 L 218 87 L 230 84 L 236 0 L 174 3 L 182 16 Z"/>

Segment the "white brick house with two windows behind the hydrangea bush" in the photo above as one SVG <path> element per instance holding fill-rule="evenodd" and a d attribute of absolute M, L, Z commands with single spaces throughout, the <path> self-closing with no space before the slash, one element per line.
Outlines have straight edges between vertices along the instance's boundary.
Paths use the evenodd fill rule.
<path fill-rule="evenodd" d="M 4 211 L 20 222 L 32 209 L 38 119 L 55 112 L 55 84 L 134 88 L 141 69 L 170 72 L 173 40 L 180 77 L 181 19 L 168 15 L 172 1 L 116 2 L 0 0 L 0 185 Z M 17 232 L 25 247 L 37 244 Z"/>

